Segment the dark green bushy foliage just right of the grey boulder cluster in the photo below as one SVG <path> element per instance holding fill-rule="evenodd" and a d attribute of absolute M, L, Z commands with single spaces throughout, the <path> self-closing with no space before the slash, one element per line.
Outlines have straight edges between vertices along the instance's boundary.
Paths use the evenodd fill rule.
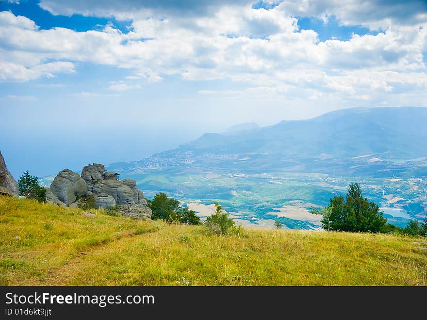
<path fill-rule="evenodd" d="M 148 207 L 152 210 L 151 219 L 163 219 L 168 223 L 200 224 L 200 218 L 193 210 L 183 208 L 180 202 L 173 198 L 168 198 L 163 192 L 148 200 Z"/>

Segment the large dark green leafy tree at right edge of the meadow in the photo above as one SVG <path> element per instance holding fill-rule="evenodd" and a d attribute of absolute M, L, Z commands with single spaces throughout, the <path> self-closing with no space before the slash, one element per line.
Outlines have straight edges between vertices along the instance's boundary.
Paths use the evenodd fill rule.
<path fill-rule="evenodd" d="M 329 202 L 328 207 L 318 211 L 323 216 L 321 222 L 325 230 L 376 233 L 381 232 L 387 222 L 378 205 L 361 196 L 358 183 L 350 184 L 345 198 L 334 196 Z"/>

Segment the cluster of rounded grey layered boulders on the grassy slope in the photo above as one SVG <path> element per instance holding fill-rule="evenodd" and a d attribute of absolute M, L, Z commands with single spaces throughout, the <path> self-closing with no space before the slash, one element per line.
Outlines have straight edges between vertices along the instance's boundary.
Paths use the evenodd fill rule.
<path fill-rule="evenodd" d="M 117 180 L 117 175 L 94 163 L 83 168 L 82 176 L 64 169 L 46 192 L 46 200 L 58 205 L 78 207 L 90 199 L 95 208 L 117 205 L 119 213 L 132 218 L 150 218 L 147 199 L 132 179 Z"/>

